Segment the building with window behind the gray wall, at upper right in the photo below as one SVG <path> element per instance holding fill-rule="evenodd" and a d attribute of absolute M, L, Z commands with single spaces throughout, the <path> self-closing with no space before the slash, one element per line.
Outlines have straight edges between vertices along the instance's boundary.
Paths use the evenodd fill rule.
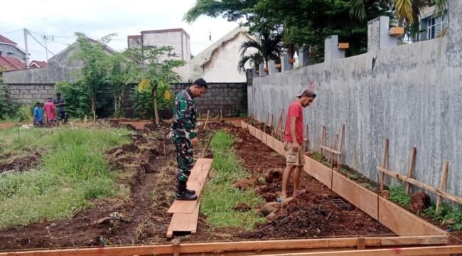
<path fill-rule="evenodd" d="M 435 6 L 426 7 L 420 16 L 419 41 L 438 38 L 447 33 L 448 15 L 446 11 L 443 16 L 435 16 Z"/>

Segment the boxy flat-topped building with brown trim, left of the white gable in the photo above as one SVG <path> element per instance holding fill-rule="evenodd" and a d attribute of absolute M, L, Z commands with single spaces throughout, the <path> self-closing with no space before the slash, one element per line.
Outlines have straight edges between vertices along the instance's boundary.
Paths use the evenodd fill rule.
<path fill-rule="evenodd" d="M 141 31 L 141 35 L 128 36 L 127 43 L 129 48 L 171 46 L 178 60 L 191 58 L 190 38 L 183 28 Z"/>

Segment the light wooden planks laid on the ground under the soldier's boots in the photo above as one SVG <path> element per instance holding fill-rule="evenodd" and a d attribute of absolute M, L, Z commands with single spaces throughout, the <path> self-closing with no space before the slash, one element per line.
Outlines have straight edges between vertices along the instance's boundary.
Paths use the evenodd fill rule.
<path fill-rule="evenodd" d="M 200 192 L 208 176 L 208 171 L 213 159 L 200 158 L 195 162 L 191 175 L 188 179 L 188 188 L 195 190 L 198 200 L 195 201 L 174 201 L 168 209 L 173 213 L 168 225 L 167 238 L 173 237 L 173 232 L 190 232 L 195 234 L 198 227 Z"/>

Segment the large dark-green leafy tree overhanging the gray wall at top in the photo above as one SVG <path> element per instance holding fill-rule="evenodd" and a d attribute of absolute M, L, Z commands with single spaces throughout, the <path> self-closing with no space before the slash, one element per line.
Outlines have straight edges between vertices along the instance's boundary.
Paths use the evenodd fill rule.
<path fill-rule="evenodd" d="M 367 48 L 367 20 L 391 15 L 390 0 L 363 0 L 364 18 L 350 15 L 353 0 L 197 0 L 185 15 L 188 22 L 201 15 L 223 16 L 240 21 L 251 32 L 279 33 L 291 54 L 294 48 L 309 47 L 315 61 L 323 60 L 324 38 L 337 34 L 350 43 L 348 55 Z M 357 0 L 360 1 L 360 0 Z"/>

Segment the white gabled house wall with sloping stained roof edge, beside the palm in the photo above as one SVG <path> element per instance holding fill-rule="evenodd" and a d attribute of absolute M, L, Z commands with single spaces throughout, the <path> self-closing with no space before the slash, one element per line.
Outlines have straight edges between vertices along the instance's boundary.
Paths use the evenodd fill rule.
<path fill-rule="evenodd" d="M 182 82 L 204 78 L 207 82 L 246 82 L 245 73 L 237 69 L 242 43 L 254 39 L 248 29 L 238 26 L 176 70 Z M 252 53 L 252 49 L 247 50 Z M 250 68 L 247 64 L 247 68 Z"/>

